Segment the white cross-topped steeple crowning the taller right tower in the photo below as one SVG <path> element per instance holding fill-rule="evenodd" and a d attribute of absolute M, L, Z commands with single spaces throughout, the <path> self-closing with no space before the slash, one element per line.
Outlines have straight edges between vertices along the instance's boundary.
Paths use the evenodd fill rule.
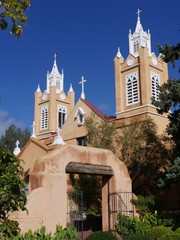
<path fill-rule="evenodd" d="M 151 35 L 149 30 L 148 32 L 143 30 L 140 20 L 141 12 L 141 9 L 138 9 L 136 12 L 138 17 L 135 32 L 132 34 L 131 30 L 129 30 L 129 53 L 131 53 L 134 57 L 139 56 L 140 47 L 147 47 L 149 56 L 151 55 Z"/>

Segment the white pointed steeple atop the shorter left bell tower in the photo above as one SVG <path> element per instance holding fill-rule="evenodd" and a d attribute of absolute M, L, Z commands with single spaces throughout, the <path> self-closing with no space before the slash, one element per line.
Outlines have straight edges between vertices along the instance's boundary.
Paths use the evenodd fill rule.
<path fill-rule="evenodd" d="M 60 93 L 64 90 L 64 73 L 62 70 L 62 73 L 60 74 L 58 71 L 58 67 L 56 64 L 56 57 L 57 54 L 54 54 L 54 64 L 52 67 L 52 71 L 49 73 L 47 72 L 47 93 L 49 93 L 49 88 L 51 86 L 56 86 L 56 92 Z"/>

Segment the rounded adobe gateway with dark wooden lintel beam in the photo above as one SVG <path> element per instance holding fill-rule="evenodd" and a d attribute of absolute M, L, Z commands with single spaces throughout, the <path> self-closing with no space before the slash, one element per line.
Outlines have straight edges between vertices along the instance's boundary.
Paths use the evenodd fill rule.
<path fill-rule="evenodd" d="M 16 212 L 22 232 L 45 225 L 55 231 L 67 224 L 67 173 L 102 175 L 102 228 L 109 229 L 108 193 L 131 192 L 126 166 L 111 151 L 73 145 L 56 146 L 39 157 L 30 174 L 26 212 Z"/>

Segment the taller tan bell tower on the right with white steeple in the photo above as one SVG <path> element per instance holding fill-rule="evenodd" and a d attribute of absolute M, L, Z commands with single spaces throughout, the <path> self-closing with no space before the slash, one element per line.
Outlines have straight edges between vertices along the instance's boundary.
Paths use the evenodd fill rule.
<path fill-rule="evenodd" d="M 168 79 L 167 64 L 151 52 L 150 31 L 143 30 L 140 12 L 134 33 L 129 30 L 128 57 L 124 59 L 118 48 L 114 59 L 116 119 L 130 124 L 149 116 L 157 125 L 167 124 L 166 116 L 157 114 L 151 104 L 152 97 L 158 100 L 158 86 Z"/>

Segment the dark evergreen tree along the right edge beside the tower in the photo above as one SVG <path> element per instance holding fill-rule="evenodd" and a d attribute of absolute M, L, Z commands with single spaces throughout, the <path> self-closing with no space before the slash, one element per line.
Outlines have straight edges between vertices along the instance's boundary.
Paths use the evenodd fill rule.
<path fill-rule="evenodd" d="M 159 46 L 159 51 L 162 59 L 175 67 L 175 61 L 180 59 L 180 44 L 165 44 L 164 47 Z M 165 187 L 180 181 L 180 79 L 169 79 L 159 87 L 159 92 L 159 101 L 152 99 L 152 103 L 157 107 L 158 113 L 168 114 L 169 124 L 166 130 L 174 141 L 171 166 L 167 167 L 159 180 L 159 186 Z"/>

